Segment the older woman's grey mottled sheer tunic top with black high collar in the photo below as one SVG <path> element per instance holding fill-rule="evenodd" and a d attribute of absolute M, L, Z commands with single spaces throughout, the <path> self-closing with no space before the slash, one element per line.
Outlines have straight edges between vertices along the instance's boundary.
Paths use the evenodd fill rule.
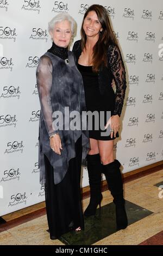
<path fill-rule="evenodd" d="M 68 62 L 65 59 L 68 59 Z M 82 126 L 82 111 L 86 111 L 83 80 L 76 67 L 73 53 L 68 51 L 67 48 L 58 47 L 54 43 L 52 48 L 43 54 L 39 60 L 36 80 L 41 105 L 39 124 L 40 183 L 45 184 L 46 182 L 45 154 L 54 168 L 54 184 L 58 184 L 67 172 L 68 161 L 76 156 L 74 145 L 81 135 L 83 164 L 90 149 L 86 124 L 83 123 Z M 76 118 L 78 123 L 81 121 L 81 126 L 78 130 L 67 129 L 72 120 L 68 118 L 68 115 L 72 111 L 80 113 L 80 120 Z M 54 112 L 55 114 L 62 113 L 63 126 L 60 123 L 58 127 L 55 127 L 53 122 Z M 61 155 L 54 153 L 50 147 L 49 136 L 56 132 L 59 133 L 61 138 L 63 148 Z"/>

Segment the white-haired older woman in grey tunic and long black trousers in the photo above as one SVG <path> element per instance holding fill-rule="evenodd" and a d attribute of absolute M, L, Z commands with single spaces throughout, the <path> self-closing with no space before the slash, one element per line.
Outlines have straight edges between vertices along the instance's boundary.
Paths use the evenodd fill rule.
<path fill-rule="evenodd" d="M 74 20 L 66 13 L 58 14 L 49 22 L 53 44 L 40 58 L 36 70 L 41 105 L 40 182 L 45 184 L 51 239 L 84 228 L 80 170 L 89 148 L 89 136 L 87 130 L 81 128 L 80 117 L 76 120 L 78 129 L 70 125 L 72 111 L 79 114 L 85 111 L 82 76 L 73 53 L 68 51 L 74 26 Z"/>

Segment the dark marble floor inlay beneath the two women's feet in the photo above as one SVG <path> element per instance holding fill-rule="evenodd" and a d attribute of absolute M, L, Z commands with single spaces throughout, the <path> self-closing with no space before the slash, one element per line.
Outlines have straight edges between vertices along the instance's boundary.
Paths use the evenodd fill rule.
<path fill-rule="evenodd" d="M 141 220 L 151 214 L 148 211 L 126 200 L 126 211 L 128 225 Z M 85 229 L 82 231 L 71 231 L 60 237 L 60 241 L 65 245 L 92 245 L 116 232 L 115 205 L 110 203 L 97 209 L 96 215 L 84 219 Z"/>

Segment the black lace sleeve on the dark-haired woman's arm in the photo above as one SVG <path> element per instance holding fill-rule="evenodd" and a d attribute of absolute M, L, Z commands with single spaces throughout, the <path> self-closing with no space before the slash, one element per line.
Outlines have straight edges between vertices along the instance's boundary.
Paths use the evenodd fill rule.
<path fill-rule="evenodd" d="M 109 46 L 108 57 L 109 66 L 116 84 L 114 115 L 118 114 L 120 117 L 126 92 L 126 71 L 120 49 L 116 45 Z"/>

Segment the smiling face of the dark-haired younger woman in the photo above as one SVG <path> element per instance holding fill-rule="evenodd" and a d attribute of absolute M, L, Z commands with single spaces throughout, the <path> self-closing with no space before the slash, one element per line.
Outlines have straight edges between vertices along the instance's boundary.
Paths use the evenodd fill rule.
<path fill-rule="evenodd" d="M 95 11 L 89 11 L 83 23 L 83 29 L 86 36 L 99 36 L 99 32 L 103 30 L 101 23 Z"/>

